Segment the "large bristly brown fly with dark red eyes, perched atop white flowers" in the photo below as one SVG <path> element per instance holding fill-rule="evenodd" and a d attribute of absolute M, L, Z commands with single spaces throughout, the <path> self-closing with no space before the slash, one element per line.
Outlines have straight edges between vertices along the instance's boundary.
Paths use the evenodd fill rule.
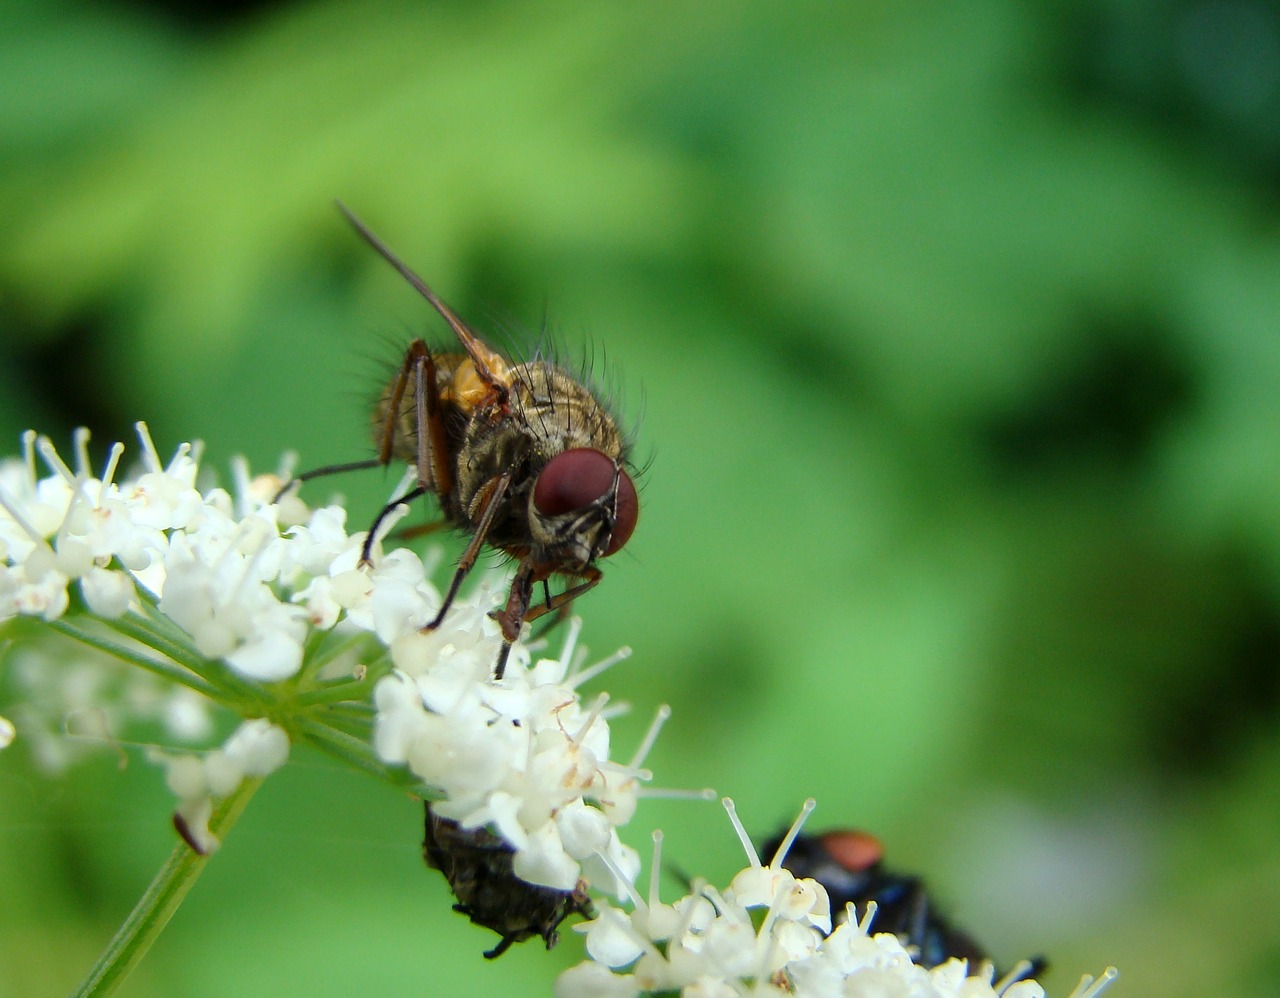
<path fill-rule="evenodd" d="M 545 360 L 512 363 L 486 345 L 360 219 L 339 207 L 440 313 L 463 352 L 436 353 L 415 339 L 374 408 L 378 457 L 316 468 L 294 481 L 393 459 L 413 466 L 415 487 L 378 514 L 362 557 L 371 560 L 383 519 L 426 493 L 439 500 L 445 525 L 471 535 L 425 631 L 444 621 L 485 545 L 509 555 L 516 573 L 506 606 L 493 614 L 503 636 L 494 669 L 502 678 L 521 627 L 566 610 L 594 589 L 602 578 L 596 560 L 631 537 L 640 502 L 627 471 L 626 436 L 604 404 L 561 367 Z M 554 595 L 552 578 L 566 581 Z M 544 599 L 534 605 L 538 585 Z"/>

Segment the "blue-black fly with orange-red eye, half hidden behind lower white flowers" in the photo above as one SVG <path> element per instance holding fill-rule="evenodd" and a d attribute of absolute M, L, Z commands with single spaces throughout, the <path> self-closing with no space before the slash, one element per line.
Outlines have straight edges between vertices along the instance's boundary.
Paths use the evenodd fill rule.
<path fill-rule="evenodd" d="M 781 844 L 781 836 L 765 842 L 762 861 L 768 864 Z M 852 902 L 856 916 L 863 917 L 867 902 L 874 901 L 872 929 L 893 933 L 904 944 L 915 947 L 916 961 L 924 967 L 936 967 L 952 957 L 968 960 L 972 967 L 991 960 L 969 933 L 957 929 L 934 907 L 923 878 L 887 870 L 883 857 L 884 848 L 874 836 L 836 830 L 797 836 L 782 865 L 827 889 L 837 921 L 844 921 L 847 903 Z M 1036 978 L 1048 966 L 1043 957 L 1029 963 L 1016 980 Z M 1001 978 L 998 971 L 996 978 Z"/>

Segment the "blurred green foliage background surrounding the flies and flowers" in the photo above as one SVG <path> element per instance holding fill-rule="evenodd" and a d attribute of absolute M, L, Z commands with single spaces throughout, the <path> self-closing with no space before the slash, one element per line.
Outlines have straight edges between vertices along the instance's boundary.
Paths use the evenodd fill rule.
<path fill-rule="evenodd" d="M 447 335 L 342 197 L 636 422 L 640 526 L 580 603 L 635 647 L 620 755 L 669 701 L 659 786 L 758 836 L 817 796 L 1052 993 L 1276 993 L 1280 4 L 0 12 L 8 453 L 146 418 L 223 468 L 367 455 Z M 355 530 L 389 481 L 333 487 Z M 61 994 L 172 802 L 140 752 L 50 782 L 20 746 L 0 994 Z M 718 805 L 653 827 L 742 862 Z M 485 963 L 419 839 L 296 757 L 123 993 L 548 993 L 576 944 Z"/>

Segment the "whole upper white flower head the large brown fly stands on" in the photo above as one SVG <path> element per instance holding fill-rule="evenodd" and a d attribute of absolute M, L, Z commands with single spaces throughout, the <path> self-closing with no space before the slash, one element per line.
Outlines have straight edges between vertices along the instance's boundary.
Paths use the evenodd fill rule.
<path fill-rule="evenodd" d="M 422 632 L 440 595 L 416 554 L 362 566 L 364 535 L 346 532 L 343 509 L 271 504 L 279 479 L 251 482 L 243 471 L 238 503 L 221 489 L 202 494 L 191 447 L 164 464 L 138 431 L 145 470 L 123 484 L 114 481 L 122 448 L 95 477 L 83 432 L 74 471 L 33 434 L 23 459 L 0 464 L 0 621 L 59 618 L 73 583 L 104 619 L 151 594 L 201 658 L 260 683 L 297 676 L 316 630 L 370 632 L 396 664 L 375 691 L 375 750 L 443 795 L 438 815 L 497 829 L 516 850 L 515 873 L 534 884 L 572 891 L 585 875 L 618 889 L 609 864 L 635 873 L 639 860 L 616 829 L 649 778 L 644 756 L 667 711 L 623 765 L 609 760 L 607 697 L 584 705 L 577 692 L 626 653 L 576 670 L 575 623 L 558 659 L 532 663 L 516 645 L 494 682 L 495 594 L 456 600 L 438 630 Z M 36 452 L 52 472 L 44 479 Z M 280 523 L 282 509 L 294 526 Z M 209 761 L 170 765 L 179 818 L 196 838 L 210 798 L 225 793 L 224 768 Z"/>

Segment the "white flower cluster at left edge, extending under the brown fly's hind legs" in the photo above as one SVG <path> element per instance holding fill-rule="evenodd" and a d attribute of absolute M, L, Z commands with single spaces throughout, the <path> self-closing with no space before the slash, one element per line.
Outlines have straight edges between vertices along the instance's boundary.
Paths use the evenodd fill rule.
<path fill-rule="evenodd" d="M 202 494 L 191 445 L 164 464 L 143 424 L 138 435 L 145 470 L 122 484 L 114 477 L 123 447 L 95 477 L 83 431 L 76 471 L 31 432 L 24 457 L 0 463 L 0 621 L 61 617 L 73 582 L 92 614 L 118 618 L 137 608 L 141 583 L 196 653 L 246 679 L 275 682 L 297 674 L 311 627 L 342 618 L 390 641 L 439 605 L 410 551 L 360 568 L 364 535 L 346 532 L 342 508 L 274 505 L 275 476 L 250 482 L 242 473 L 239 503 L 223 489 Z M 52 471 L 44 479 L 36 450 Z"/>

